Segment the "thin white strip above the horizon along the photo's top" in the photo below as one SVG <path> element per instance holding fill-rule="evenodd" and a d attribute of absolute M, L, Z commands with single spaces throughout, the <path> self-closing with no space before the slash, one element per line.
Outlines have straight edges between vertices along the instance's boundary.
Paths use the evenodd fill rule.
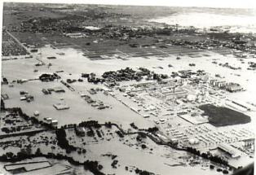
<path fill-rule="evenodd" d="M 138 7 L 197 7 L 197 8 L 223 8 L 223 9 L 252 9 L 256 10 L 256 2 L 253 0 L 165 0 L 145 1 L 130 0 L 124 2 L 120 0 L 4 0 L 3 3 L 50 3 L 50 4 L 88 4 L 88 5 L 110 5 L 110 6 L 138 6 Z"/>

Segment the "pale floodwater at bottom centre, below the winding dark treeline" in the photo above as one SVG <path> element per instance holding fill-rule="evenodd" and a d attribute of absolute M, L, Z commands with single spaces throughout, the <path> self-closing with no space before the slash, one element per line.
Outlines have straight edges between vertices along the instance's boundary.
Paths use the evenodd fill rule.
<path fill-rule="evenodd" d="M 148 141 L 147 141 L 148 142 Z M 155 143 L 151 143 L 152 145 L 155 145 Z M 190 166 L 172 166 L 174 164 L 179 164 L 179 162 L 183 162 L 185 160 L 174 160 L 173 158 L 176 156 L 183 156 L 186 155 L 183 151 L 174 151 L 170 148 L 165 148 L 162 146 L 158 146 L 156 149 L 159 149 L 159 153 L 148 154 L 147 151 L 138 150 L 135 149 L 135 147 L 127 147 L 124 144 L 117 142 L 105 142 L 105 147 L 108 147 L 108 151 L 112 152 L 115 155 L 119 155 L 117 160 L 120 164 L 123 166 L 136 166 L 140 169 L 145 169 L 148 172 L 161 174 L 161 175 L 169 175 L 171 174 L 181 174 L 181 175 L 199 175 L 199 174 L 205 174 L 205 175 L 217 175 L 218 173 L 216 170 L 210 171 L 209 167 L 206 167 L 205 170 L 202 169 L 201 164 L 199 166 L 190 167 Z M 90 147 L 90 146 L 89 146 Z M 151 147 L 151 145 L 149 146 Z M 103 152 L 104 153 L 104 147 L 101 145 L 94 145 L 90 147 L 90 149 Z M 170 153 L 170 158 L 167 158 L 163 156 L 163 153 Z M 170 164 L 170 165 L 168 165 Z M 185 163 L 186 164 L 186 163 Z M 123 174 L 123 170 L 120 168 L 117 168 L 117 170 L 114 170 L 110 168 L 104 169 L 106 173 L 116 173 L 116 174 Z M 132 173 L 131 173 L 132 174 Z"/>

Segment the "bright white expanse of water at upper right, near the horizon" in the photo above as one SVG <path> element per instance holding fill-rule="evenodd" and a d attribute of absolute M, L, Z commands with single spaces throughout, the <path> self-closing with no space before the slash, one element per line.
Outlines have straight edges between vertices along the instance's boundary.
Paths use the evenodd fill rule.
<path fill-rule="evenodd" d="M 202 11 L 183 11 L 167 17 L 159 17 L 149 21 L 179 24 L 180 26 L 195 28 L 222 27 L 231 33 L 256 33 L 256 14 L 218 14 Z"/>

